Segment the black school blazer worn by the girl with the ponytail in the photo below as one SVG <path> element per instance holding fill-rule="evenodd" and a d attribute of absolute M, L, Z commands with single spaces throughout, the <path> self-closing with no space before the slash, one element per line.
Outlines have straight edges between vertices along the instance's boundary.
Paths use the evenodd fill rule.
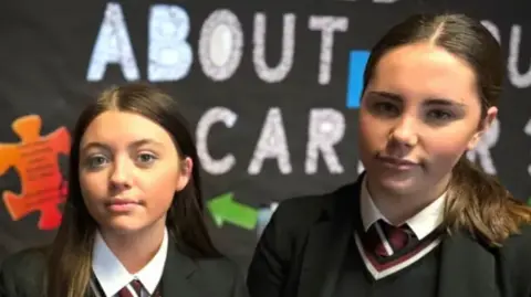
<path fill-rule="evenodd" d="M 360 213 L 360 181 L 279 205 L 249 266 L 251 297 L 333 297 Z M 437 297 L 531 296 L 530 226 L 499 248 L 465 232 L 447 235 L 441 256 Z"/>

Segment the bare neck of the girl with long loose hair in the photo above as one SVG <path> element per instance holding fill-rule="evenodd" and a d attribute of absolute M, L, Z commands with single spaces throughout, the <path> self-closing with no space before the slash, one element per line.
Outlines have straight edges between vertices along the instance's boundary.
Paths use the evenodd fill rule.
<path fill-rule="evenodd" d="M 131 233 L 103 229 L 101 229 L 101 233 L 108 248 L 127 272 L 135 274 L 157 254 L 163 243 L 164 230 L 164 224 L 155 224 L 152 227 Z"/>

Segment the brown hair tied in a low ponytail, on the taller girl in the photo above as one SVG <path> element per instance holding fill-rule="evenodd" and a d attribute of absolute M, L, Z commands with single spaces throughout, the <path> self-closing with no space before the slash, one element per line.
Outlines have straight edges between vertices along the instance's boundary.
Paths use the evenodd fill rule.
<path fill-rule="evenodd" d="M 483 119 L 488 108 L 498 105 L 503 59 L 492 34 L 464 14 L 416 14 L 393 26 L 372 50 L 364 88 L 383 55 L 397 46 L 423 41 L 441 46 L 470 65 L 476 74 Z M 531 208 L 514 199 L 496 177 L 485 173 L 465 155 L 460 158 L 452 170 L 445 208 L 448 231 L 466 230 L 489 245 L 501 245 L 530 221 Z"/>

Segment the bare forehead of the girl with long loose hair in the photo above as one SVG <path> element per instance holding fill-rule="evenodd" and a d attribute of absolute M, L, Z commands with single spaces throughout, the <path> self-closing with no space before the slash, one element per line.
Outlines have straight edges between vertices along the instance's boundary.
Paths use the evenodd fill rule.
<path fill-rule="evenodd" d="M 91 121 L 81 146 L 93 141 L 121 146 L 140 139 L 173 146 L 170 135 L 157 123 L 138 114 L 115 110 L 104 112 Z"/>

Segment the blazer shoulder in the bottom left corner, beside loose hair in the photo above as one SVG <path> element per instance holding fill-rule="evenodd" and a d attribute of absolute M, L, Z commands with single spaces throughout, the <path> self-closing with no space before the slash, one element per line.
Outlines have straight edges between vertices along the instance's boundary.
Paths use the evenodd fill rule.
<path fill-rule="evenodd" d="M 44 248 L 28 248 L 8 256 L 0 264 L 0 291 L 7 296 L 24 295 L 23 291 L 30 296 L 30 291 L 39 293 L 45 266 Z"/>

